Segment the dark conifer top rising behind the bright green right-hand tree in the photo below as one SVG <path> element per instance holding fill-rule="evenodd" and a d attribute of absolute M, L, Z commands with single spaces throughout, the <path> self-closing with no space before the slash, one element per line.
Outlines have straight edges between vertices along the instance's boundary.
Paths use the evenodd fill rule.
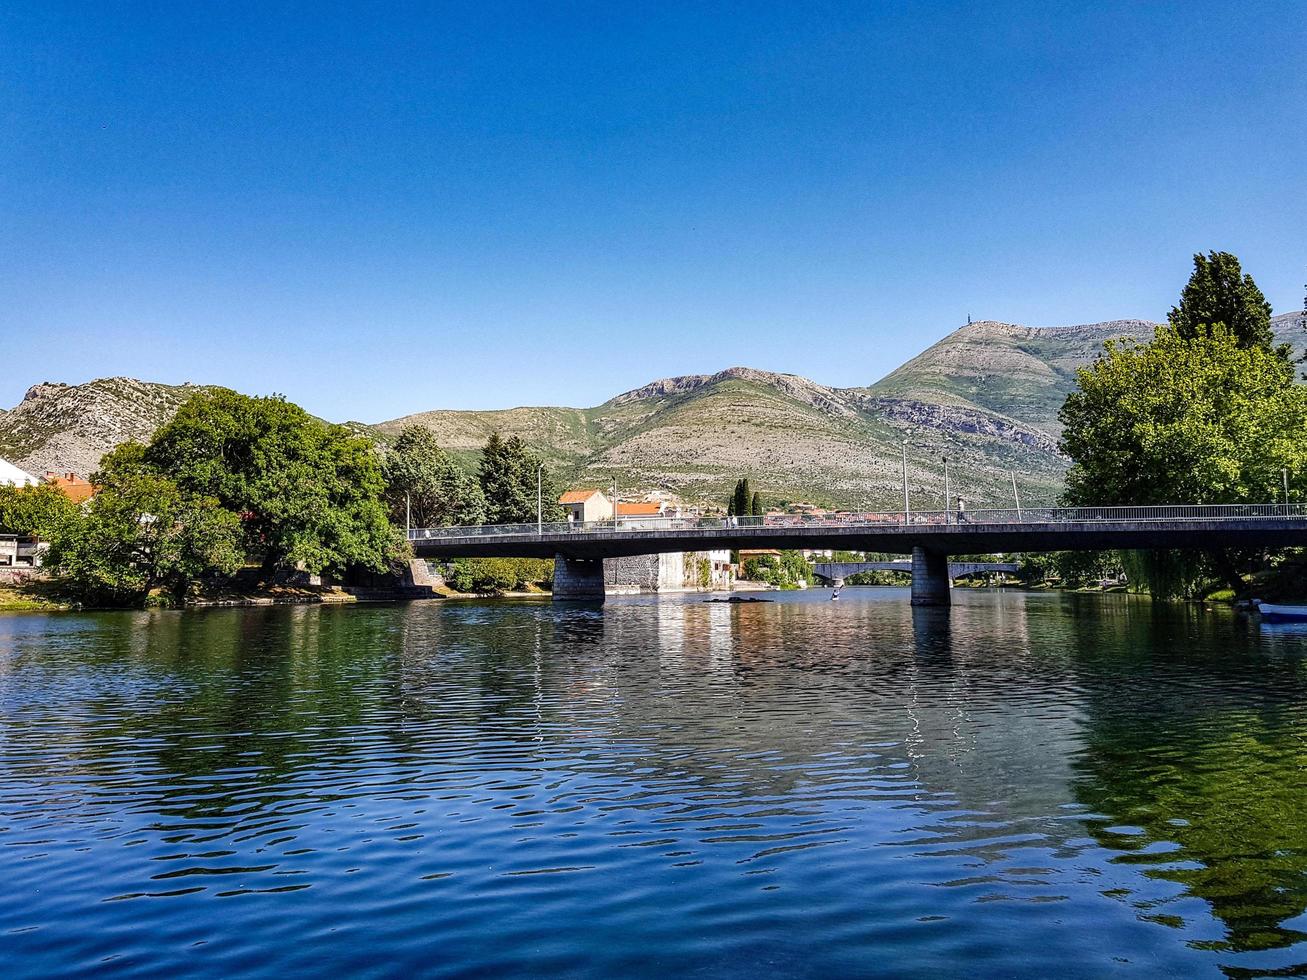
<path fill-rule="evenodd" d="M 1193 256 L 1193 274 L 1167 319 L 1184 340 L 1195 340 L 1204 327 L 1223 324 L 1240 346 L 1270 350 L 1274 344 L 1270 303 L 1230 252 Z"/>

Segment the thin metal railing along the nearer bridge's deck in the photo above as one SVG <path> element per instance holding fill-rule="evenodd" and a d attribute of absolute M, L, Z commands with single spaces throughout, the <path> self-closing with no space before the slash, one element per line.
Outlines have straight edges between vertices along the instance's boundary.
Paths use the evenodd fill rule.
<path fill-rule="evenodd" d="M 979 511 L 918 511 L 894 514 L 791 515 L 763 517 L 618 517 L 616 521 L 557 521 L 546 524 L 478 524 L 452 528 L 413 528 L 410 541 L 474 537 L 544 537 L 555 534 L 612 534 L 638 531 L 721 531 L 762 528 L 886 528 L 916 525 L 1093 524 L 1166 521 L 1240 521 L 1307 517 L 1304 503 L 1163 504 L 1148 507 L 1009 507 Z"/>

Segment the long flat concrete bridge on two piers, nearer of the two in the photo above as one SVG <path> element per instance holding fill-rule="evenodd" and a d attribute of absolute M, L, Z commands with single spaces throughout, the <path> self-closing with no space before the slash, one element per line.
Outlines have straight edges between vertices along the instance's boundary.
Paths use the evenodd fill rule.
<path fill-rule="evenodd" d="M 414 528 L 421 558 L 554 558 L 554 598 L 604 598 L 604 558 L 714 549 L 910 554 L 912 602 L 949 604 L 949 555 L 1107 549 L 1307 546 L 1307 504 L 1022 507 L 834 517 L 631 517 Z"/>

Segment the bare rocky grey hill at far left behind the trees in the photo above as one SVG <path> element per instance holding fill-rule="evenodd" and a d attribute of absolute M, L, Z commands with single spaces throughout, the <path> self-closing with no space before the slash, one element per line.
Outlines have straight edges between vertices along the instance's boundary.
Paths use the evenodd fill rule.
<path fill-rule="evenodd" d="M 33 385 L 17 408 L 0 412 L 0 459 L 29 473 L 86 476 L 119 443 L 149 439 L 196 391 L 133 378 Z"/>

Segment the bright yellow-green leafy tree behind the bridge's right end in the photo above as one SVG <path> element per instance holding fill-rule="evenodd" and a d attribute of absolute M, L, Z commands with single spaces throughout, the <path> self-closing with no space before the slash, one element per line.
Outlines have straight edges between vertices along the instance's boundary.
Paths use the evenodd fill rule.
<path fill-rule="evenodd" d="M 1278 498 L 1282 469 L 1307 472 L 1307 389 L 1278 351 L 1223 325 L 1108 341 L 1077 384 L 1059 413 L 1067 504 L 1260 503 Z M 1240 589 L 1236 554 L 1204 558 Z M 1174 596 L 1192 592 L 1201 568 L 1193 555 L 1149 553 L 1127 571 Z"/>

